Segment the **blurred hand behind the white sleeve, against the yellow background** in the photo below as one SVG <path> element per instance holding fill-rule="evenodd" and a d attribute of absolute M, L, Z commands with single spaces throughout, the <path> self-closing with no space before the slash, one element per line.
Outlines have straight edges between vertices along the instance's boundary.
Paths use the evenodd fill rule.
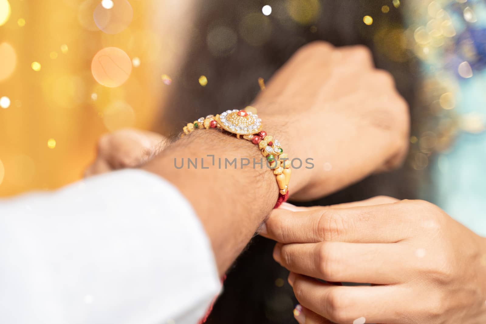
<path fill-rule="evenodd" d="M 98 141 L 98 155 L 85 171 L 85 176 L 139 167 L 167 145 L 164 136 L 137 129 L 106 134 Z"/>

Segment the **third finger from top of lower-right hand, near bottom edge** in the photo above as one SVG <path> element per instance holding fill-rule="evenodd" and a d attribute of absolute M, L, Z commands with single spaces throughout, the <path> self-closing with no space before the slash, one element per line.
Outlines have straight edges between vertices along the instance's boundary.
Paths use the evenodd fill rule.
<path fill-rule="evenodd" d="M 398 324 L 408 316 L 401 305 L 409 293 L 400 286 L 333 286 L 295 273 L 289 283 L 303 307 L 334 323 Z"/>

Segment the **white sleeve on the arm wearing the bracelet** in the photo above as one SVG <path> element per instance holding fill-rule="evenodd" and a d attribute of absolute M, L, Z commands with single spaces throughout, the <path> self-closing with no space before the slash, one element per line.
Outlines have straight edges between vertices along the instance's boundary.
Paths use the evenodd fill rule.
<path fill-rule="evenodd" d="M 194 210 L 139 170 L 0 200 L 0 323 L 197 323 L 221 284 Z"/>

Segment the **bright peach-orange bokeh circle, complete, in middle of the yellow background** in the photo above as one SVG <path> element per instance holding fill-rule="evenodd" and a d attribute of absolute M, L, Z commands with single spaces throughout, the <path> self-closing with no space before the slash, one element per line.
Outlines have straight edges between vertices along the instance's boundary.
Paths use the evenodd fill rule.
<path fill-rule="evenodd" d="M 128 80 L 132 73 L 132 61 L 121 49 L 107 47 L 93 57 L 91 73 L 99 84 L 114 88 Z"/>

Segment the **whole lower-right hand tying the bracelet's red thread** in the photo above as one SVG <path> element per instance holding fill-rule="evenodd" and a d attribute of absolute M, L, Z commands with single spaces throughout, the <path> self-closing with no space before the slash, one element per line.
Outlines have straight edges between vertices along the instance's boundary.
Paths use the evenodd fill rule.
<path fill-rule="evenodd" d="M 295 210 L 274 210 L 261 234 L 279 242 L 299 323 L 486 323 L 486 239 L 437 206 L 377 197 Z"/>

